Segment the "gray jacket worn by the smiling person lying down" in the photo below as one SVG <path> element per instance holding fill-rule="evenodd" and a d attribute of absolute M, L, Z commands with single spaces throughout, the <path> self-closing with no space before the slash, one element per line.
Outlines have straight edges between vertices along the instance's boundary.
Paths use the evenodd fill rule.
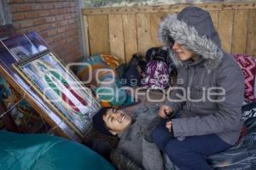
<path fill-rule="evenodd" d="M 144 139 L 144 131 L 148 124 L 157 116 L 159 107 L 138 105 L 133 118 L 136 120 L 131 127 L 120 134 L 118 150 L 146 170 L 163 170 L 163 158 L 160 150 L 154 143 Z"/>

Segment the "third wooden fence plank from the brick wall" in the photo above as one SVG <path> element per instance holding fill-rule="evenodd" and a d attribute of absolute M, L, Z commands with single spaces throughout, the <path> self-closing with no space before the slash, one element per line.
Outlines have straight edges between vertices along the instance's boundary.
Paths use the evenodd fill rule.
<path fill-rule="evenodd" d="M 122 14 L 124 39 L 125 39 L 125 61 L 128 63 L 132 54 L 137 53 L 137 25 L 136 14 Z"/>

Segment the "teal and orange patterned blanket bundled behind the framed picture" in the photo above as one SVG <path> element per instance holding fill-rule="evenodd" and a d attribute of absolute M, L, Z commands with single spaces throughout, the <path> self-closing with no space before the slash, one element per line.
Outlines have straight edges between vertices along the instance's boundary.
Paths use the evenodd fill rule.
<path fill-rule="evenodd" d="M 104 59 L 104 56 L 107 57 Z M 112 74 L 106 72 L 104 74 L 98 75 L 98 80 L 96 80 L 96 75 L 92 74 L 92 72 L 100 70 L 100 69 L 109 69 L 116 72 L 111 65 L 119 65 L 119 61 L 115 59 L 111 55 L 105 54 L 95 54 L 88 58 L 84 58 L 81 61 L 81 64 L 77 67 L 77 76 L 82 82 L 86 82 L 89 80 L 88 75 L 92 75 L 92 81 L 88 82 L 96 94 L 97 99 L 102 102 L 102 106 L 106 107 L 104 104 L 108 104 L 107 106 L 129 106 L 133 105 L 134 99 L 133 97 L 125 92 L 122 88 L 122 84 L 120 84 L 119 75 Z M 91 66 L 91 68 L 89 67 Z M 91 70 L 90 70 L 90 69 Z M 91 71 L 91 72 L 90 72 Z M 108 85 L 102 84 L 100 82 L 109 82 Z M 85 84 L 86 85 L 86 84 Z"/>

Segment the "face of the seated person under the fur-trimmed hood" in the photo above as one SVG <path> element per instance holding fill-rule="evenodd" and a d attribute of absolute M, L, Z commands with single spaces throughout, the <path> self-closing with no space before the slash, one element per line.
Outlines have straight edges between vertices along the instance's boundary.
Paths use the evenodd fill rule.
<path fill-rule="evenodd" d="M 183 45 L 177 42 L 174 42 L 172 50 L 174 51 L 175 54 L 177 54 L 177 57 L 182 61 L 193 59 L 195 57 L 195 54 L 193 54 L 190 50 L 186 49 Z"/>

